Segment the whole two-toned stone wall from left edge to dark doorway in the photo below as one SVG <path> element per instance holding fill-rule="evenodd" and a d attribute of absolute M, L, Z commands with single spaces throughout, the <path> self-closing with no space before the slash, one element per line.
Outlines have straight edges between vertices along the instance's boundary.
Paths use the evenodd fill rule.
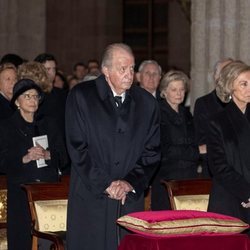
<path fill-rule="evenodd" d="M 121 0 L 0 1 L 0 57 L 48 52 L 71 73 L 74 63 L 100 60 L 107 44 L 121 41 Z"/>

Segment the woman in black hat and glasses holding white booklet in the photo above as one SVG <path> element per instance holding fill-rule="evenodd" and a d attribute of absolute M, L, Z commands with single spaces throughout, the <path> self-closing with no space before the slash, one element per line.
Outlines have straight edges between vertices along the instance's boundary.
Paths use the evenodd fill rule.
<path fill-rule="evenodd" d="M 31 220 L 22 183 L 55 182 L 58 169 L 67 158 L 63 138 L 53 120 L 36 116 L 43 92 L 29 79 L 22 79 L 13 89 L 11 103 L 17 110 L 0 123 L 0 170 L 7 175 L 8 249 L 31 249 Z M 34 143 L 37 136 L 47 136 L 48 147 Z M 45 140 L 46 141 L 46 140 Z M 37 161 L 43 161 L 39 167 Z"/>

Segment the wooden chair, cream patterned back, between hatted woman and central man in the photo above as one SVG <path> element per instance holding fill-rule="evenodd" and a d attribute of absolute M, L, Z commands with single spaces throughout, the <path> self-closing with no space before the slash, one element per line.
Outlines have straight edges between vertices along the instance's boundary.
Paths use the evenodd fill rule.
<path fill-rule="evenodd" d="M 69 176 L 63 177 L 60 182 L 56 183 L 32 183 L 22 185 L 27 193 L 32 219 L 32 249 L 38 249 L 38 238 L 47 239 L 53 242 L 52 249 L 63 250 L 64 239 L 66 234 L 66 212 L 69 192 Z M 60 225 L 63 229 L 57 229 L 55 225 L 49 225 L 46 221 L 44 226 L 41 221 L 49 217 L 45 213 L 53 210 L 53 216 L 60 217 Z M 57 213 L 60 213 L 58 215 Z M 61 218 L 62 217 L 62 218 Z M 56 229 L 53 230 L 53 227 Z"/>

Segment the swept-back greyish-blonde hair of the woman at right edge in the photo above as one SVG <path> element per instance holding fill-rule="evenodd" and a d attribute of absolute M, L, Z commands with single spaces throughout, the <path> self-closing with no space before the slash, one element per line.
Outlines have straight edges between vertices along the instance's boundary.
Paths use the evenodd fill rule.
<path fill-rule="evenodd" d="M 231 62 L 222 69 L 215 87 L 222 102 L 228 103 L 231 100 L 234 81 L 246 71 L 250 71 L 250 66 L 240 61 Z"/>

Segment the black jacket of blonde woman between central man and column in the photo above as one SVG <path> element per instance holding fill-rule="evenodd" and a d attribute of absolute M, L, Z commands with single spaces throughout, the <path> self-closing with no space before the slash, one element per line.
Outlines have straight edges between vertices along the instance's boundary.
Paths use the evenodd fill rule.
<path fill-rule="evenodd" d="M 167 171 L 169 178 L 196 177 L 186 175 L 197 169 L 198 146 L 194 139 L 193 117 L 187 108 L 179 106 L 179 113 L 175 112 L 170 105 L 162 100 L 161 108 L 161 169 Z M 171 174 L 177 170 L 178 176 Z M 183 176 L 182 176 L 183 175 Z"/>

